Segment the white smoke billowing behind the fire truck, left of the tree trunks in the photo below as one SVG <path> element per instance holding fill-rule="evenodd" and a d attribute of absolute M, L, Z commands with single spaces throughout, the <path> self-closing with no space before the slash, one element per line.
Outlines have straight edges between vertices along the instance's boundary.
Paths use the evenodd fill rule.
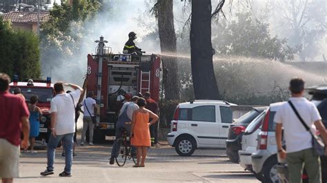
<path fill-rule="evenodd" d="M 138 37 L 135 42 L 137 46 L 142 48 L 143 45 L 138 43 L 149 32 L 138 25 L 137 15 L 144 11 L 143 0 L 104 1 L 101 11 L 97 12 L 95 17 L 89 18 L 85 22 L 72 22 L 70 24 L 70 31 L 72 33 L 77 32 L 75 35 L 77 39 L 73 42 L 79 45 L 79 48 L 73 50 L 68 46 L 58 53 L 58 56 L 69 55 L 67 60 L 57 61 L 55 57 L 49 59 L 46 55 L 42 57 L 43 77 L 51 75 L 52 81 L 61 80 L 82 84 L 86 74 L 87 55 L 96 54 L 97 44 L 95 40 L 101 36 L 108 41 L 106 46 L 112 48 L 113 53 L 119 53 L 122 52 L 123 46 L 128 40 L 128 33 L 134 31 L 137 32 Z M 155 19 L 155 17 L 152 18 Z M 154 46 L 144 47 L 148 49 L 147 52 L 152 52 L 150 48 L 155 48 Z M 47 67 L 49 61 L 56 61 L 60 65 L 49 68 Z"/>

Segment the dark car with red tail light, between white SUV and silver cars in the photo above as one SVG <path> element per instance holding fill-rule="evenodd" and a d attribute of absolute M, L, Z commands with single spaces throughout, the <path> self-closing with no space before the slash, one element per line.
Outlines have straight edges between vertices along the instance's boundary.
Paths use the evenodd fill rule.
<path fill-rule="evenodd" d="M 228 139 L 226 140 L 226 154 L 231 162 L 239 162 L 238 151 L 241 150 L 242 147 L 241 139 L 244 130 L 248 124 L 250 124 L 250 122 L 252 122 L 252 120 L 259 114 L 263 113 L 265 109 L 266 107 L 255 107 L 230 125 Z"/>

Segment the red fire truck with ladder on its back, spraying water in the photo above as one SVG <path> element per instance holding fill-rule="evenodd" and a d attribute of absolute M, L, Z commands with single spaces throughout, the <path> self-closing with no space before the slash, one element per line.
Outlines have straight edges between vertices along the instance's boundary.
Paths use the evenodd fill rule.
<path fill-rule="evenodd" d="M 102 142 L 115 135 L 117 114 L 124 94 L 137 95 L 149 91 L 159 101 L 159 55 L 113 54 L 108 41 L 100 37 L 95 41 L 97 55 L 88 55 L 87 91 L 93 91 L 100 108 L 93 142 Z M 119 96 L 121 95 L 121 96 Z"/>

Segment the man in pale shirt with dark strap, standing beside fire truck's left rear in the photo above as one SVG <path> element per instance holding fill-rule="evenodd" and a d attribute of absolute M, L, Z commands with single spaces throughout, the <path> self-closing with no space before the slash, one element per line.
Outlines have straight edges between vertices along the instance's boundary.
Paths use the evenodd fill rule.
<path fill-rule="evenodd" d="M 88 92 L 88 97 L 83 100 L 82 105 L 84 106 L 84 117 L 83 117 L 83 131 L 81 137 L 81 146 L 84 145 L 86 131 L 88 130 L 88 135 L 90 137 L 90 146 L 93 146 L 93 128 L 95 123 L 92 121 L 92 117 L 97 114 L 97 103 L 93 99 L 94 94 L 92 91 Z"/>

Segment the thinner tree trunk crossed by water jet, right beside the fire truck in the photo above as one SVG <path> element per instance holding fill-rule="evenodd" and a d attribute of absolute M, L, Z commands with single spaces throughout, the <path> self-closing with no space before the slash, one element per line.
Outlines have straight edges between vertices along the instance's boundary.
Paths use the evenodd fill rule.
<path fill-rule="evenodd" d="M 158 0 L 158 27 L 161 53 L 164 55 L 177 55 L 174 15 L 172 13 L 172 0 Z M 179 99 L 179 78 L 177 70 L 177 57 L 161 57 L 162 64 L 168 69 L 165 83 L 166 99 Z"/>

